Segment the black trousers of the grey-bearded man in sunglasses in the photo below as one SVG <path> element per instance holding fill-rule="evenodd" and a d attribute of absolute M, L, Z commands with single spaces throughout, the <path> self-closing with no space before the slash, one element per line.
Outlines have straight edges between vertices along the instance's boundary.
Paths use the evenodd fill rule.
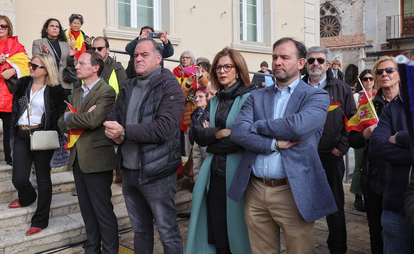
<path fill-rule="evenodd" d="M 327 154 L 320 156 L 320 162 L 325 169 L 326 177 L 331 187 L 338 211 L 326 216 L 329 235 L 326 243 L 331 254 L 347 252 L 347 227 L 345 225 L 345 196 L 342 179 L 345 174 L 345 164 L 342 156 Z"/>

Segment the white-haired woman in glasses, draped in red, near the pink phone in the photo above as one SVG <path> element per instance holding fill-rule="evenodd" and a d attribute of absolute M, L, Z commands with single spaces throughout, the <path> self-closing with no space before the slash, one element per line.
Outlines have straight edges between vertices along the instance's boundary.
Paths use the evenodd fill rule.
<path fill-rule="evenodd" d="M 198 85 L 199 86 L 207 86 L 208 79 L 204 75 L 202 75 L 201 67 L 195 65 L 195 57 L 190 50 L 185 50 L 181 53 L 180 56 L 180 65 L 173 69 L 173 74 L 178 79 L 178 83 L 181 85 L 181 89 L 183 89 L 184 98 L 185 98 L 185 110 L 183 119 L 181 120 L 181 156 L 185 156 L 185 141 L 184 141 L 184 134 L 187 134 L 190 130 L 191 125 L 191 113 L 197 108 L 195 105 L 195 90 L 197 89 L 197 80 L 195 79 L 196 73 L 194 72 L 186 72 L 185 67 L 194 67 L 198 70 Z M 191 145 L 189 139 L 187 139 L 187 148 L 188 154 L 190 154 Z"/>

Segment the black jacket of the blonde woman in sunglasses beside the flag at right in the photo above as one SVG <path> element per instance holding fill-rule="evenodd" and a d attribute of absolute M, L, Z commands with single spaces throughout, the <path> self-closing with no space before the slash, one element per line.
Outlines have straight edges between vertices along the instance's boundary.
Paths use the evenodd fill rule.
<path fill-rule="evenodd" d="M 382 98 L 382 89 L 379 89 L 375 97 L 373 98 L 373 106 L 380 117 L 382 110 L 385 108 Z M 357 132 L 351 130 L 348 135 L 349 145 L 354 149 L 365 148 L 360 166 L 361 180 L 360 185 L 364 194 L 376 194 L 383 195 L 385 191 L 385 185 L 387 184 L 387 168 L 388 163 L 380 161 L 377 158 L 371 158 L 368 153 L 369 139 L 363 138 L 363 132 Z M 364 195 L 364 198 L 366 195 Z"/>

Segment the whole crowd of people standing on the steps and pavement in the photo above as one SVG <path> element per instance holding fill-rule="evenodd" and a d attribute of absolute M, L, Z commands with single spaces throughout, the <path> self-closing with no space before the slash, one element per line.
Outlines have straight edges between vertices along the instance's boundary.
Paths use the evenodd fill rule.
<path fill-rule="evenodd" d="M 259 72 L 268 75 L 252 81 L 243 55 L 228 47 L 211 63 L 186 50 L 171 72 L 163 67 L 174 53 L 167 32 L 157 43 L 144 26 L 125 48 L 125 72 L 109 57 L 106 37 L 89 38 L 83 23 L 80 14 L 70 15 L 67 30 L 46 20 L 29 60 L 0 16 L 0 118 L 18 191 L 9 207 L 37 199 L 26 235 L 48 227 L 51 168 L 67 165 L 85 253 L 118 253 L 116 170 L 135 253 L 153 252 L 153 220 L 164 252 L 183 253 L 175 194 L 181 156 L 189 154 L 195 185 L 185 253 L 280 253 L 281 230 L 287 253 L 314 253 L 314 221 L 325 216 L 330 252 L 346 253 L 343 156 L 352 147 L 351 192 L 367 213 L 372 253 L 414 251 L 414 162 L 395 58 L 363 70 L 354 93 L 329 49 L 306 49 L 294 38 L 273 44 L 271 70 L 262 62 Z M 364 91 L 380 121 L 348 132 Z M 58 148 L 34 149 L 38 131 L 56 132 Z"/>

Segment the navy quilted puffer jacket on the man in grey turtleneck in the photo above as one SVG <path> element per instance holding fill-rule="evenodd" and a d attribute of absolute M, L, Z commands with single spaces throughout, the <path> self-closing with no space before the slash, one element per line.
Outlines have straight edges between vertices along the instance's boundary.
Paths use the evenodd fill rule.
<path fill-rule="evenodd" d="M 181 165 L 180 122 L 184 113 L 184 96 L 176 77 L 169 69 L 150 80 L 150 88 L 140 104 L 137 124 L 126 125 L 126 113 L 137 77 L 126 79 L 108 121 L 117 121 L 125 128 L 125 139 L 139 145 L 140 178 L 145 183 L 176 173 Z M 112 141 L 112 140 L 110 140 Z M 113 142 L 114 143 L 114 142 Z M 122 146 L 122 144 L 120 144 Z M 118 174 L 122 163 L 118 147 Z"/>

